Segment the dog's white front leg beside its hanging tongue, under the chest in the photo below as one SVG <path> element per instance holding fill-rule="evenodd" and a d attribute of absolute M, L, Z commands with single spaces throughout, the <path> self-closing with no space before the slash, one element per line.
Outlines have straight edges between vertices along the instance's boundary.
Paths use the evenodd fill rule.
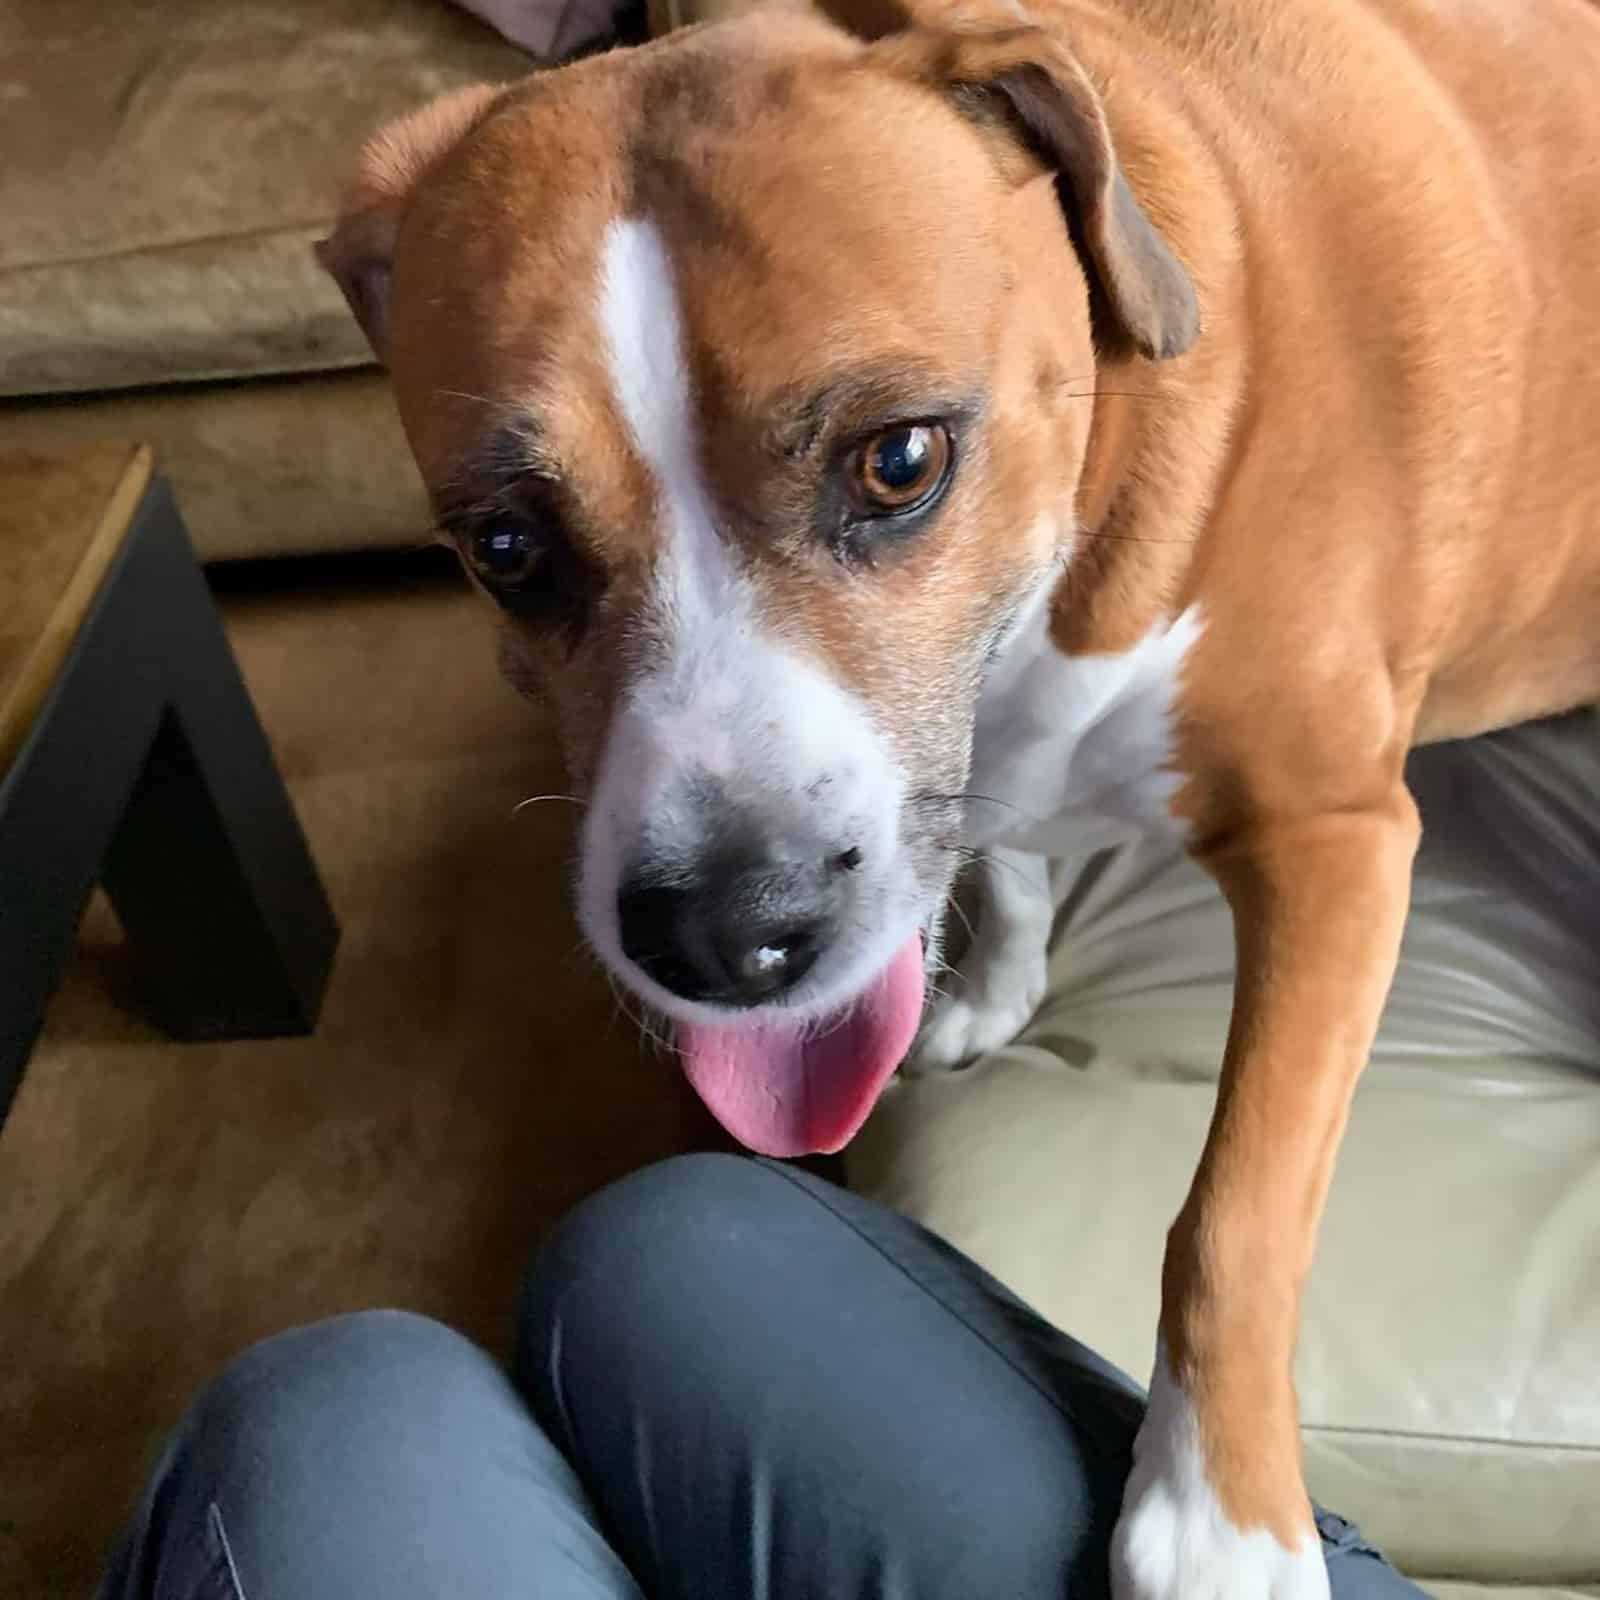
<path fill-rule="evenodd" d="M 1010 1043 L 1045 994 L 1050 862 L 994 848 L 978 864 L 978 920 L 958 968 L 944 974 L 907 1072 L 941 1072 Z"/>

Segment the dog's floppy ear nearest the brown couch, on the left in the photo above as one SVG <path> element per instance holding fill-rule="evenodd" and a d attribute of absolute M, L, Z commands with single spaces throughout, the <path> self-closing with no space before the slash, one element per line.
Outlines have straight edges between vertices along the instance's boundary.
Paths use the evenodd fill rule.
<path fill-rule="evenodd" d="M 483 117 L 499 90 L 456 90 L 379 128 L 366 141 L 355 181 L 317 259 L 333 275 L 379 362 L 389 347 L 389 275 L 406 198 L 422 174 Z"/>

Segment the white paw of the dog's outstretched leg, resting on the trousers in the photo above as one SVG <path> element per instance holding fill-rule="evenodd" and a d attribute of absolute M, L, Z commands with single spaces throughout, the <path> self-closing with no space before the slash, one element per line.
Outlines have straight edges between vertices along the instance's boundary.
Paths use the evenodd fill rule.
<path fill-rule="evenodd" d="M 1112 1538 L 1114 1600 L 1328 1600 L 1328 1566 L 1309 1520 L 1293 1549 L 1266 1528 L 1245 1531 L 1229 1520 L 1165 1354 L 1133 1462 Z"/>

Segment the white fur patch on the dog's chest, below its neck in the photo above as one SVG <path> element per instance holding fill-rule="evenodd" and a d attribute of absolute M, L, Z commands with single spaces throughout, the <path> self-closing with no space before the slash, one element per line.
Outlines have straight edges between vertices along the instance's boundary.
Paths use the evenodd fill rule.
<path fill-rule="evenodd" d="M 1190 606 L 1133 650 L 1066 656 L 1035 606 L 979 696 L 971 842 L 1062 854 L 1088 818 L 1176 830 L 1174 709 L 1200 632 Z"/>

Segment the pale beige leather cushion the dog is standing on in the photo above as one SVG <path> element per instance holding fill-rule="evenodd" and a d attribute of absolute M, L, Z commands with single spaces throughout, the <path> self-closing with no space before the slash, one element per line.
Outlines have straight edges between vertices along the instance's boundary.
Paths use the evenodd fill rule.
<path fill-rule="evenodd" d="M 1413 771 L 1435 826 L 1306 1306 L 1310 1485 L 1419 1574 L 1595 1584 L 1600 728 Z M 1213 1104 L 1229 918 L 1150 846 L 1058 886 L 1037 1019 L 968 1072 L 898 1085 L 850 1176 L 1144 1378 Z"/>

